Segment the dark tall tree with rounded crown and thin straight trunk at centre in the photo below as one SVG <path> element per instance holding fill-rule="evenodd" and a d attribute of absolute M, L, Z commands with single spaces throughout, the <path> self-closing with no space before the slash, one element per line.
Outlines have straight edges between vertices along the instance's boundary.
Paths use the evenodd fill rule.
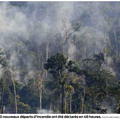
<path fill-rule="evenodd" d="M 67 58 L 63 54 L 57 53 L 56 55 L 50 57 L 44 64 L 46 70 L 49 71 L 54 77 L 54 79 L 59 81 L 61 85 L 62 92 L 62 109 L 61 112 L 64 113 L 64 86 L 68 79 L 67 74 Z"/>

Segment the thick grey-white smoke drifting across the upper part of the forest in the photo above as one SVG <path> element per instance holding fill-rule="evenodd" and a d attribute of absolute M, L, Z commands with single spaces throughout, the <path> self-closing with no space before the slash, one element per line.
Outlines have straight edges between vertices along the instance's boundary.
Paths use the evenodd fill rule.
<path fill-rule="evenodd" d="M 1 2 L 0 3 L 0 45 L 9 51 L 9 65 L 15 66 L 16 79 L 20 80 L 19 58 L 27 67 L 25 80 L 34 76 L 34 66 L 29 55 L 23 57 L 22 50 L 29 51 L 31 40 L 38 44 L 55 40 L 57 34 L 65 41 L 73 31 L 73 23 L 80 22 L 80 31 L 75 32 L 77 40 L 84 42 L 88 51 L 99 53 L 105 46 L 109 23 L 103 12 L 109 3 L 101 2 Z M 83 14 L 84 13 L 84 14 Z M 69 59 L 77 51 L 72 36 L 69 38 Z M 57 52 L 57 51 L 56 51 Z M 92 55 L 91 55 L 92 56 Z"/>

